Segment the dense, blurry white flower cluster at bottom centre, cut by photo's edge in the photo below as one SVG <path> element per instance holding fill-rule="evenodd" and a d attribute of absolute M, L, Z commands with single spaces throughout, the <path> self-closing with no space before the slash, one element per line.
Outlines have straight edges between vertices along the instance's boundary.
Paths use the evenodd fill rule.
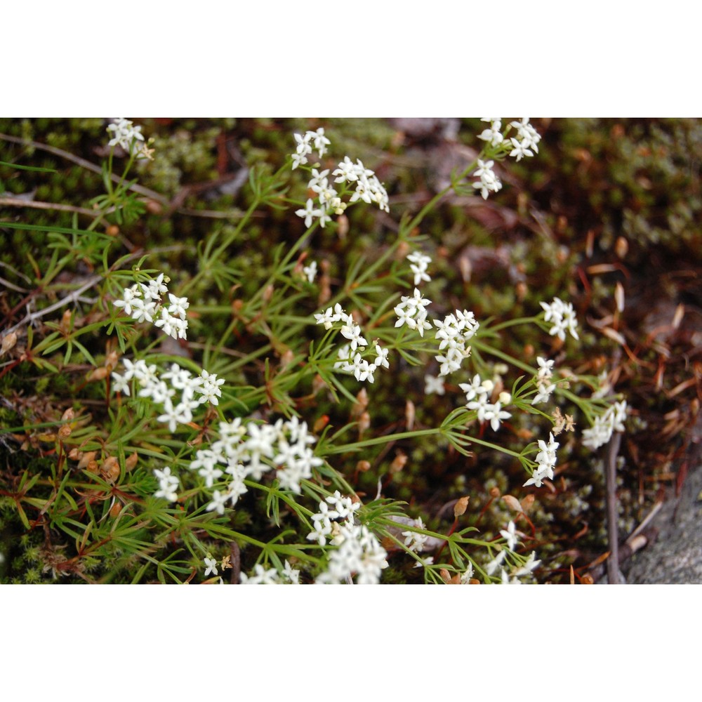
<path fill-rule="evenodd" d="M 380 581 L 388 552 L 380 545 L 375 534 L 354 522 L 354 514 L 361 503 L 342 497 L 337 490 L 326 501 L 319 503 L 319 512 L 312 515 L 314 531 L 307 534 L 310 541 L 320 546 L 330 538 L 337 548 L 329 553 L 326 571 L 317 576 L 317 583 L 349 582 L 356 576 L 359 585 L 375 584 Z M 330 509 L 331 507 L 331 509 Z"/>

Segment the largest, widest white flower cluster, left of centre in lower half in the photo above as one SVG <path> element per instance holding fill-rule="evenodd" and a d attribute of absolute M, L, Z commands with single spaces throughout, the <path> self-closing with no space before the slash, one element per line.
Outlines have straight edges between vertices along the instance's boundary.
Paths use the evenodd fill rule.
<path fill-rule="evenodd" d="M 197 450 L 190 470 L 197 470 L 207 488 L 212 488 L 223 475 L 229 476 L 225 491 L 213 491 L 207 505 L 209 511 L 220 515 L 224 514 L 227 501 L 233 507 L 248 491 L 246 478 L 258 481 L 265 472 L 275 470 L 281 489 L 300 494 L 300 481 L 310 479 L 312 468 L 322 465 L 322 459 L 316 458 L 310 447 L 317 439 L 307 433 L 307 423 L 297 417 L 279 419 L 274 424 L 246 425 L 237 417 L 231 422 L 220 422 L 219 435 L 208 449 Z"/>

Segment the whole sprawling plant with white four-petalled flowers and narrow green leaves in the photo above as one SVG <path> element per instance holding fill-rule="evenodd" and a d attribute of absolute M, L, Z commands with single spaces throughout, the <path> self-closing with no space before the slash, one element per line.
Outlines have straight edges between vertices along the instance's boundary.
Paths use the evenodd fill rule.
<path fill-rule="evenodd" d="M 398 442 L 431 446 L 436 456 L 495 452 L 522 466 L 524 487 L 545 489 L 559 471 L 561 432 L 584 420 L 578 440 L 594 450 L 624 430 L 625 400 L 606 378 L 578 376 L 564 353 L 538 355 L 532 366 L 504 350 L 520 326 L 544 345 L 577 343 L 569 301 L 543 300 L 531 317 L 500 321 L 447 309 L 423 288 L 433 275 L 418 234 L 428 213 L 450 190 L 494 197 L 503 187 L 496 162 L 538 154 L 529 120 L 486 121 L 475 161 L 415 216 L 400 216 L 394 239 L 373 260 L 352 261 L 343 280 L 315 260 L 320 230 L 347 225 L 353 208 L 395 214 L 364 154 L 333 154 L 324 128 L 294 133 L 277 171 L 251 169 L 249 208 L 201 243 L 197 268 L 164 271 L 145 267 L 156 254 L 125 254 L 98 232 L 138 218 L 143 205 L 126 176 L 136 159 L 153 157 L 139 126 L 107 126 L 107 192 L 93 200 L 86 229 L 45 227 L 53 253 L 41 272 L 51 281 L 79 257 L 96 271 L 95 298 L 79 288 L 3 336 L 3 374 L 89 369 L 80 383 L 71 379 L 60 419 L 6 431 L 13 450 L 41 454 L 44 468 L 25 468 L 2 494 L 29 541 L 39 527 L 53 535 L 32 547 L 45 572 L 89 582 L 361 584 L 383 582 L 391 564 L 403 572 L 404 563 L 426 583 L 538 579 L 525 513 L 484 533 L 461 496 L 444 529 L 436 515 L 411 517 L 387 494 L 408 460 L 386 459 Z M 126 165 L 114 185 L 119 159 Z M 291 213 L 304 232 L 274 251 L 251 295 L 221 305 L 194 297 L 242 285 L 246 273 L 223 260 L 265 207 Z M 61 321 L 44 325 L 53 332 L 35 340 L 39 319 L 64 305 Z M 231 352 L 237 335 L 248 340 Z M 414 378 L 426 395 L 450 401 L 446 416 L 414 428 L 408 401 L 401 431 L 373 427 L 374 389 L 389 384 L 402 398 L 402 383 Z M 508 424 L 524 430 L 505 432 Z M 515 441 L 524 436 L 540 438 Z M 359 487 L 369 471 L 375 494 Z"/>

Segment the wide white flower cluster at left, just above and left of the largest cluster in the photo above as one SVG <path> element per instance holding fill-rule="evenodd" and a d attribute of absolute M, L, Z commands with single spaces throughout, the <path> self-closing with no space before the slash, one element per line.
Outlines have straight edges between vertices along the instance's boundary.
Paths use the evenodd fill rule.
<path fill-rule="evenodd" d="M 167 423 L 171 432 L 176 431 L 178 424 L 192 422 L 192 411 L 198 406 L 209 402 L 218 404 L 224 379 L 217 378 L 215 373 L 201 371 L 199 376 L 193 376 L 190 371 L 171 364 L 164 373 L 159 372 L 154 364 L 147 364 L 143 359 L 131 362 L 122 359 L 124 373 L 112 373 L 112 388 L 114 392 L 131 395 L 130 380 L 136 380 L 139 386 L 138 397 L 150 397 L 152 402 L 161 404 L 164 413 L 158 417 L 159 422 Z M 169 381 L 169 382 L 166 382 Z M 180 397 L 176 398 L 180 391 Z M 200 397 L 195 397 L 195 394 Z"/>

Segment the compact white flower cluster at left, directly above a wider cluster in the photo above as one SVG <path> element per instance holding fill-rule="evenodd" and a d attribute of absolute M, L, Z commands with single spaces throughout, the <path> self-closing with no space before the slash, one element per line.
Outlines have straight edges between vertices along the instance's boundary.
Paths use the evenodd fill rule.
<path fill-rule="evenodd" d="M 161 302 L 161 296 L 168 293 L 169 305 Z M 187 298 L 178 298 L 168 292 L 164 274 L 150 280 L 148 284 L 136 283 L 124 289 L 121 300 L 115 300 L 115 307 L 122 307 L 126 314 L 137 322 L 152 322 L 174 339 L 185 339 L 187 331 L 186 312 L 190 303 Z"/>

